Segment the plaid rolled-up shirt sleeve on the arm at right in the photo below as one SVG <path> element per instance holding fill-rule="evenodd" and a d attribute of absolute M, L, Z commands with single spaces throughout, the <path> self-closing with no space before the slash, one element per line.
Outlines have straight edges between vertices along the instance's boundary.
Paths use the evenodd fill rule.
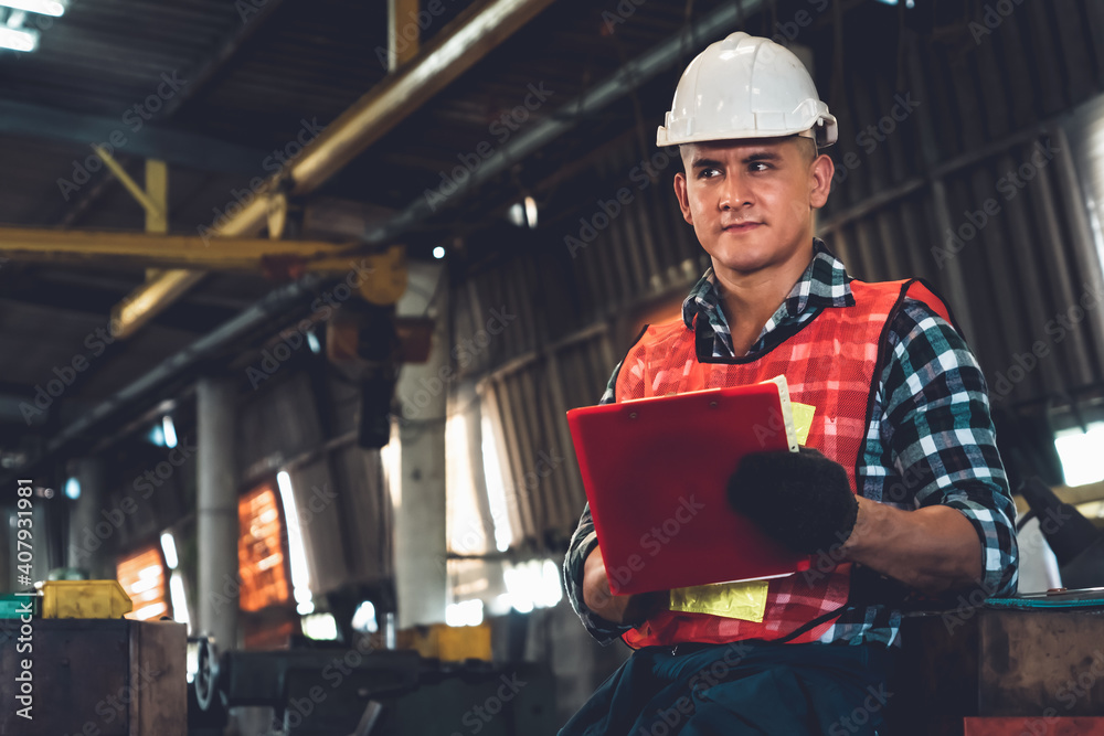
<path fill-rule="evenodd" d="M 963 337 L 920 302 L 905 302 L 888 337 L 881 431 L 894 467 L 923 481 L 915 492 L 919 506 L 951 506 L 974 525 L 985 593 L 1013 595 L 1016 508 L 981 369 Z"/>

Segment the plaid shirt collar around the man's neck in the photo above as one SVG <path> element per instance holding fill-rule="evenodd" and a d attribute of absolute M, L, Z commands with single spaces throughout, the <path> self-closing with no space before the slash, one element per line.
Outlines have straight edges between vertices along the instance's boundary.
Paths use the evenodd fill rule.
<path fill-rule="evenodd" d="M 827 307 L 851 307 L 854 297 L 851 296 L 851 277 L 847 275 L 843 264 L 834 256 L 818 237 L 813 238 L 813 260 L 809 267 L 797 279 L 789 296 L 778 307 L 771 318 L 771 323 L 778 324 L 787 317 L 800 314 L 806 309 Z M 696 314 L 703 313 L 711 322 L 723 319 L 721 299 L 716 292 L 716 277 L 710 267 L 698 280 L 690 296 L 682 302 L 682 321 L 688 328 L 693 327 Z"/>

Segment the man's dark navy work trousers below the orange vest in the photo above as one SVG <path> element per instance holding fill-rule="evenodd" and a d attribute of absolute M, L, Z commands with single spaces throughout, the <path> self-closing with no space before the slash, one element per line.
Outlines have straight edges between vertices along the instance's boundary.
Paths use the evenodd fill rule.
<path fill-rule="evenodd" d="M 884 733 L 888 670 L 882 644 L 647 647 L 560 736 L 871 736 Z"/>

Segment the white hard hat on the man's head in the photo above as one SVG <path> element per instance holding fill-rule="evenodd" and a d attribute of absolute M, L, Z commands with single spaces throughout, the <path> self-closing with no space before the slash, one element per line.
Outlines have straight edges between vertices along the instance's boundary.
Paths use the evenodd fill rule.
<path fill-rule="evenodd" d="M 690 62 L 656 145 L 804 135 L 836 142 L 836 118 L 792 51 L 743 32 Z"/>

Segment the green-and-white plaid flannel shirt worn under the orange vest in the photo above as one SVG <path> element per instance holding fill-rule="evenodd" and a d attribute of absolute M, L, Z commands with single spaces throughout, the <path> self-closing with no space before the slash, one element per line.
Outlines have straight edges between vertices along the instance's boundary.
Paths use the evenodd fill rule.
<path fill-rule="evenodd" d="M 767 320 L 747 355 L 778 345 L 822 309 L 854 303 L 843 264 L 821 241 L 815 239 L 814 248 L 809 267 Z M 713 356 L 731 358 L 732 338 L 709 269 L 682 303 L 682 319 L 691 329 L 694 316 L 701 314 L 712 328 Z M 1012 595 L 1017 580 L 1016 509 L 997 452 L 989 398 L 977 360 L 949 323 L 912 299 L 890 326 L 888 340 L 891 354 L 875 390 L 857 476 L 859 492 L 900 509 L 936 504 L 957 509 L 981 541 L 984 593 Z M 618 363 L 599 403 L 614 402 L 619 371 Z M 606 621 L 583 602 L 583 563 L 596 544 L 587 505 L 564 559 L 564 582 L 583 626 L 595 639 L 608 643 L 628 627 Z M 862 573 L 870 570 L 856 569 L 856 574 Z M 873 580 L 878 576 L 868 577 Z M 881 587 L 894 589 L 892 584 Z M 849 602 L 820 641 L 889 644 L 900 623 L 901 612 L 889 606 Z"/>

